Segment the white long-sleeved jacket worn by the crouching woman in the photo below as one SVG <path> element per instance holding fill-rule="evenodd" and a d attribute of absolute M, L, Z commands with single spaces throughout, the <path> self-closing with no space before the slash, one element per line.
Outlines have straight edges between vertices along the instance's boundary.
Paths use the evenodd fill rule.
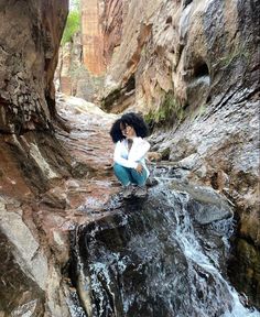
<path fill-rule="evenodd" d="M 150 143 L 140 136 L 133 138 L 130 151 L 128 150 L 127 139 L 118 141 L 113 153 L 113 161 L 128 168 L 137 168 L 138 163 L 141 163 L 149 176 L 150 173 L 145 164 L 145 155 L 150 146 Z"/>

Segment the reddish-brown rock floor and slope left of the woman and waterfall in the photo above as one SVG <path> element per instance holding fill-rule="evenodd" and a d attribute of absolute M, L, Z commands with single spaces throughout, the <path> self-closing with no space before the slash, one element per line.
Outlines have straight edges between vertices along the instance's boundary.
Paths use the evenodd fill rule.
<path fill-rule="evenodd" d="M 108 134 L 115 116 L 84 102 L 59 100 L 71 133 L 57 128 L 57 139 L 41 132 L 1 136 L 1 250 L 9 260 L 0 264 L 7 271 L 0 283 L 12 293 L 1 297 L 3 316 L 71 316 L 75 289 L 63 274 L 69 232 L 108 212 L 104 206 L 119 190 Z"/>

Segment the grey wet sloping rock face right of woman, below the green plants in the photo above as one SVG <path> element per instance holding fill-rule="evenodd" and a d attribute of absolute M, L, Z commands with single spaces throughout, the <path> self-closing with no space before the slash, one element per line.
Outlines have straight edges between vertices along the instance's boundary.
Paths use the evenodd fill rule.
<path fill-rule="evenodd" d="M 219 112 L 207 109 L 193 122 L 186 121 L 180 125 L 174 134 L 171 131 L 164 132 L 163 136 L 161 132 L 158 135 L 154 133 L 151 142 L 159 152 L 169 151 L 169 160 L 175 164 L 173 173 L 184 168 L 187 179 L 212 186 L 232 201 L 238 236 L 251 244 L 259 256 L 258 107 L 257 100 L 247 100 L 227 103 Z M 238 281 L 246 274 L 242 259 L 248 255 L 247 252 L 238 255 L 245 250 L 242 248 L 238 251 L 235 247 L 235 250 L 239 260 L 237 264 L 235 261 L 230 264 L 230 276 L 242 291 L 243 284 Z M 247 264 L 252 272 L 258 272 L 258 266 L 252 262 Z M 259 287 L 259 275 L 256 274 L 252 280 L 248 275 L 248 278 L 245 291 L 256 298 L 253 294 Z"/>

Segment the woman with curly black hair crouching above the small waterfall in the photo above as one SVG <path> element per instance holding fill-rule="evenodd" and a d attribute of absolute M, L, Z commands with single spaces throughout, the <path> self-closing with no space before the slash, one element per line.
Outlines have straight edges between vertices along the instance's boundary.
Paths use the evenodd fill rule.
<path fill-rule="evenodd" d="M 149 170 L 145 165 L 145 155 L 150 149 L 148 141 L 148 125 L 142 117 L 129 112 L 116 120 L 110 130 L 116 143 L 113 153 L 113 171 L 123 185 L 123 198 L 145 197 Z"/>

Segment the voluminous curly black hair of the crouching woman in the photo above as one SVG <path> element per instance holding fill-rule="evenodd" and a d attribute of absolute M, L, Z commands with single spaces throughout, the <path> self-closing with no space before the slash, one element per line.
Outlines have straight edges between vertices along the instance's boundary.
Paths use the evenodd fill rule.
<path fill-rule="evenodd" d="M 113 122 L 110 129 L 110 136 L 112 138 L 113 143 L 126 139 L 120 129 L 121 125 L 123 128 L 126 128 L 126 125 L 132 127 L 137 133 L 137 136 L 145 138 L 149 134 L 149 128 L 143 118 L 138 113 L 129 112 L 122 114 L 120 119 L 117 119 Z"/>

